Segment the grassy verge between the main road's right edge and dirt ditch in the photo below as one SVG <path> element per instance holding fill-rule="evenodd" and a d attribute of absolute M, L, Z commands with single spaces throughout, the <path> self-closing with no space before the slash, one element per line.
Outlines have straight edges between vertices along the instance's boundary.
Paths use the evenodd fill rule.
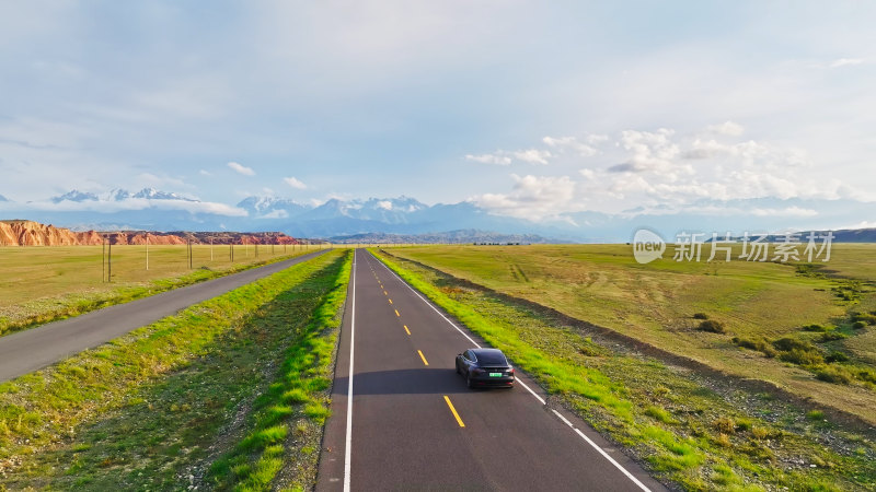
<path fill-rule="evenodd" d="M 562 405 L 685 490 L 872 490 L 872 436 L 769 393 L 700 375 L 567 326 L 531 306 L 379 258 Z"/>

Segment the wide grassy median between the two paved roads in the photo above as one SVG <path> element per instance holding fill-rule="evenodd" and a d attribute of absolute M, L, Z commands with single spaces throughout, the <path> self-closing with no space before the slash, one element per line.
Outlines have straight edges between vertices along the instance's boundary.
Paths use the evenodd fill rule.
<path fill-rule="evenodd" d="M 318 377 L 289 361 L 336 326 L 349 257 L 316 257 L 0 385 L 0 489 L 216 488 L 211 465 L 260 432 L 276 384 L 293 370 Z M 289 409 L 273 425 L 299 423 L 306 410 Z M 279 443 L 287 456 L 319 443 L 315 422 Z M 265 452 L 247 450 L 256 462 Z M 313 460 L 280 471 L 297 466 L 315 477 Z"/>

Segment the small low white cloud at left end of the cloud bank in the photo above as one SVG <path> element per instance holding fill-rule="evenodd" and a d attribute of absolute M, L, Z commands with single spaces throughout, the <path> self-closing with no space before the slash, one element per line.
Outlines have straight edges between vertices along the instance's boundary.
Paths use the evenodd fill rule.
<path fill-rule="evenodd" d="M 518 176 L 509 194 L 484 194 L 471 199 L 484 209 L 531 221 L 557 219 L 574 208 L 575 181 L 568 176 Z"/>

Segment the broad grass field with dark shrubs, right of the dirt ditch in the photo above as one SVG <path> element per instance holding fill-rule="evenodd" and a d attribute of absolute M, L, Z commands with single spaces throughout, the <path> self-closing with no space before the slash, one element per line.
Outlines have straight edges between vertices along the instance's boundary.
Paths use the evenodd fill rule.
<path fill-rule="evenodd" d="M 833 245 L 823 267 L 677 262 L 671 246 L 647 265 L 624 245 L 389 250 L 876 423 L 876 245 Z M 725 332 L 696 329 L 696 314 Z"/>

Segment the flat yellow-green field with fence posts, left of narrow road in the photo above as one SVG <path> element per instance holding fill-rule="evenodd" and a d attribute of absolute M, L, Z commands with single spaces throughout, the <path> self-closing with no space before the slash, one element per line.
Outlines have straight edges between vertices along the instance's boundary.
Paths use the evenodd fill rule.
<path fill-rule="evenodd" d="M 112 282 L 101 246 L 0 247 L 0 335 L 33 324 L 207 280 L 319 246 L 113 246 Z M 303 248 L 303 249 L 302 249 Z M 257 256 L 256 256 L 257 253 Z"/>

